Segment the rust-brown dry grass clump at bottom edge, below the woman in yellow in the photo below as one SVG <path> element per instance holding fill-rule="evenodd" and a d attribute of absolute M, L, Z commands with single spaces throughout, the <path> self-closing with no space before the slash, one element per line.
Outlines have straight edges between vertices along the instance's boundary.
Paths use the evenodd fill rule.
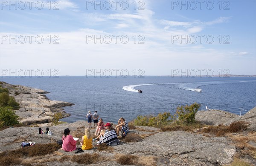
<path fill-rule="evenodd" d="M 100 156 L 98 153 L 93 153 L 93 154 L 82 154 L 82 155 L 74 155 L 71 158 L 72 162 L 76 162 L 79 164 L 96 164 L 96 163 L 101 163 L 105 161 L 105 158 Z"/>

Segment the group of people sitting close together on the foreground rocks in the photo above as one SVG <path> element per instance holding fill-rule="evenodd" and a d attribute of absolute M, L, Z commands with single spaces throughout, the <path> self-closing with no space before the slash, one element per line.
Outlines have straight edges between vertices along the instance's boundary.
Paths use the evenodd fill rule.
<path fill-rule="evenodd" d="M 122 131 L 122 132 L 121 132 Z M 118 120 L 116 127 L 113 127 L 113 123 L 104 124 L 102 118 L 99 119 L 97 123 L 97 128 L 95 131 L 95 135 L 98 135 L 95 139 L 93 139 L 93 134 L 89 128 L 84 130 L 84 136 L 81 138 L 81 149 L 89 150 L 93 148 L 93 141 L 99 140 L 97 145 L 105 143 L 107 146 L 116 146 L 119 144 L 118 136 L 119 132 L 123 134 L 123 132 L 129 132 L 128 123 L 125 121 L 123 117 Z M 76 143 L 79 140 L 74 140 L 72 135 L 70 135 L 70 129 L 64 129 L 64 135 L 62 137 L 62 149 L 66 152 L 72 152 L 77 149 Z"/>

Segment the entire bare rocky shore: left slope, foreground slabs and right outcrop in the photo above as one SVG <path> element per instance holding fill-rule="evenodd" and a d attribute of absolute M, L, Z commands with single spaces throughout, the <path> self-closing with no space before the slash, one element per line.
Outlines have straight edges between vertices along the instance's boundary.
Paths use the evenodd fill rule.
<path fill-rule="evenodd" d="M 26 124 L 38 123 L 33 127 L 23 126 L 8 128 L 0 131 L 0 153 L 20 148 L 20 143 L 36 142 L 36 144 L 55 143 L 61 140 L 63 131 L 69 128 L 73 137 L 84 135 L 84 129 L 87 122 L 77 121 L 74 123 L 64 123 L 57 126 L 49 126 L 49 118 L 55 112 L 63 112 L 61 107 L 71 106 L 73 103 L 62 101 L 51 101 L 44 94 L 48 93 L 41 89 L 29 88 L 26 86 L 14 86 L 8 83 L 2 84 L 3 88 L 9 89 L 10 95 L 20 103 L 20 109 L 16 114 L 20 116 L 20 122 Z M 137 157 L 137 163 L 127 165 L 144 166 L 227 166 L 233 162 L 241 151 L 246 152 L 246 148 L 254 149 L 256 153 L 256 107 L 243 116 L 232 114 L 221 110 L 199 111 L 195 117 L 196 120 L 205 124 L 204 128 L 218 126 L 220 124 L 230 125 L 233 122 L 243 120 L 247 123 L 247 130 L 239 133 L 230 133 L 225 136 L 204 135 L 200 129 L 195 131 L 172 131 L 163 132 L 150 126 L 134 126 L 128 135 L 133 135 L 140 139 L 138 141 L 125 142 L 120 139 L 118 146 L 113 146 L 104 151 L 99 151 L 96 142 L 93 142 L 93 149 L 75 154 L 74 152 L 64 152 L 61 149 L 50 155 L 26 157 L 22 163 L 29 163 L 29 166 L 82 166 L 84 164 L 76 163 L 72 157 L 76 155 L 99 155 L 104 160 L 99 160 L 90 165 L 109 165 L 120 166 L 121 164 L 115 157 Z M 41 135 L 38 128 L 45 130 L 49 127 L 52 135 Z M 95 129 L 91 128 L 92 132 Z M 128 137 L 128 135 L 126 137 Z M 238 146 L 236 140 L 244 141 L 247 146 Z M 79 147 L 79 143 L 77 144 Z M 244 149 L 244 147 L 246 147 Z M 242 156 L 243 160 L 251 165 L 256 164 L 256 155 Z M 63 162 L 65 159 L 65 162 Z M 0 159 L 0 163 L 2 163 Z M 25 164 L 26 165 L 26 164 Z M 126 165 L 126 164 L 123 164 Z"/>

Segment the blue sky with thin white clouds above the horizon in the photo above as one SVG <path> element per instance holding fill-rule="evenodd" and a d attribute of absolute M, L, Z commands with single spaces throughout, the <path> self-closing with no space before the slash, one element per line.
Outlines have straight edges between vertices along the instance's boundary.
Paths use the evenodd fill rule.
<path fill-rule="evenodd" d="M 0 1 L 0 75 L 256 74 L 255 0 Z"/>

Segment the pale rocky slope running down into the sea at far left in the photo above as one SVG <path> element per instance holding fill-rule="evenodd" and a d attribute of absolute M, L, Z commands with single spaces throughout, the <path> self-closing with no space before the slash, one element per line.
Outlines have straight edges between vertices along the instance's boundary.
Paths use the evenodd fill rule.
<path fill-rule="evenodd" d="M 70 116 L 70 114 L 64 112 L 62 107 L 72 106 L 73 103 L 49 100 L 45 95 L 49 92 L 41 89 L 2 83 L 2 88 L 7 88 L 9 95 L 20 104 L 20 109 L 15 112 L 20 117 L 20 123 L 26 125 L 49 123 L 51 116 L 57 112 L 61 112 L 63 117 Z"/>

